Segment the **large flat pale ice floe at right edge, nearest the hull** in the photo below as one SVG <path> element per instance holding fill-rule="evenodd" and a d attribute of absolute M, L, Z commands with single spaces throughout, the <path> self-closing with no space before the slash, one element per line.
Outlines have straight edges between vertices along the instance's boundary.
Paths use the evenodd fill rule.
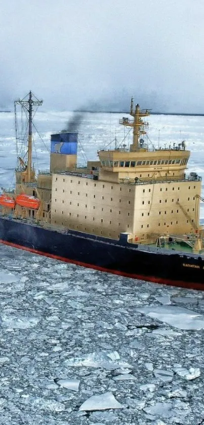
<path fill-rule="evenodd" d="M 137 312 L 158 319 L 160 322 L 169 323 L 179 329 L 204 329 L 204 317 L 187 308 L 173 305 L 162 305 L 136 308 Z"/>

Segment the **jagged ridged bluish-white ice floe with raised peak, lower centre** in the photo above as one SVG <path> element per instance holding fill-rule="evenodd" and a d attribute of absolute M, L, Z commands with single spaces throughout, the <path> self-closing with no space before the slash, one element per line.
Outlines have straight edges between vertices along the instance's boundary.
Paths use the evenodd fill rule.
<path fill-rule="evenodd" d="M 120 360 L 119 354 L 114 352 L 94 352 L 83 357 L 72 357 L 65 360 L 66 366 L 102 367 L 105 369 L 132 368 L 129 363 Z"/>

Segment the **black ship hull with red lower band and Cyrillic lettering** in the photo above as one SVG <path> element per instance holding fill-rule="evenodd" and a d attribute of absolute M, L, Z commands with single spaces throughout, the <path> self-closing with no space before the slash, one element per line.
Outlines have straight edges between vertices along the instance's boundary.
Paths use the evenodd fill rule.
<path fill-rule="evenodd" d="M 134 279 L 204 289 L 204 257 L 130 244 L 75 230 L 66 233 L 0 217 L 0 242 L 62 261 Z"/>

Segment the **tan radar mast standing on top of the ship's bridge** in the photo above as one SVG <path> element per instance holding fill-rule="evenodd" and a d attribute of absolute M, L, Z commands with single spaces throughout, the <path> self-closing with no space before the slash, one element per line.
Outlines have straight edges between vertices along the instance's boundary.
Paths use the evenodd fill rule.
<path fill-rule="evenodd" d="M 140 144 L 140 136 L 147 133 L 148 123 L 145 123 L 142 118 L 150 115 L 150 109 L 140 109 L 139 104 L 133 106 L 133 97 L 131 99 L 130 115 L 134 117 L 134 120 L 129 118 L 123 118 L 119 120 L 119 124 L 123 124 L 126 127 L 133 128 L 133 144 L 130 146 L 131 152 L 138 152 L 140 149 L 144 149 L 143 145 Z"/>

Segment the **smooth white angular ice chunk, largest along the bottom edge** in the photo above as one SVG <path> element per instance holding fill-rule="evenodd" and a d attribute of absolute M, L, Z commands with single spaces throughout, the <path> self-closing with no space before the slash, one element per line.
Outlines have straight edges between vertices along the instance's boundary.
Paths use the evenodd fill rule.
<path fill-rule="evenodd" d="M 86 400 L 79 410 L 107 410 L 107 409 L 123 409 L 123 405 L 118 403 L 112 393 L 104 393 L 99 396 L 92 396 Z"/>

